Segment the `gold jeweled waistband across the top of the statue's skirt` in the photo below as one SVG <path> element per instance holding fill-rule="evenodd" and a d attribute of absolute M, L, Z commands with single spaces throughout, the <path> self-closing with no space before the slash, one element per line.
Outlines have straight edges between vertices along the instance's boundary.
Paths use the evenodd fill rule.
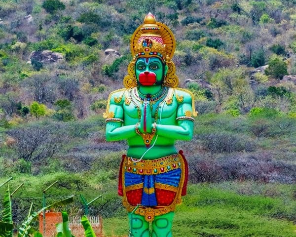
<path fill-rule="evenodd" d="M 174 154 L 158 159 L 135 159 L 125 157 L 124 170 L 135 174 L 159 174 L 181 168 L 181 155 Z"/>

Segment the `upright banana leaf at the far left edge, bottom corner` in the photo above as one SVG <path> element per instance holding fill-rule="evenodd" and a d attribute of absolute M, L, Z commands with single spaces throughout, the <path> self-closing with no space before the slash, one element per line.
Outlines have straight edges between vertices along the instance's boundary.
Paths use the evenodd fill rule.
<path fill-rule="evenodd" d="M 2 227 L 5 227 L 3 230 L 1 228 L 0 235 L 3 237 L 12 237 L 12 210 L 11 210 L 11 197 L 10 197 L 10 191 L 9 186 L 6 190 L 4 197 L 3 197 L 3 210 L 2 210 L 3 218 L 2 218 Z M 4 224 L 6 223 L 6 224 Z M 8 227 L 8 228 L 6 228 Z"/>

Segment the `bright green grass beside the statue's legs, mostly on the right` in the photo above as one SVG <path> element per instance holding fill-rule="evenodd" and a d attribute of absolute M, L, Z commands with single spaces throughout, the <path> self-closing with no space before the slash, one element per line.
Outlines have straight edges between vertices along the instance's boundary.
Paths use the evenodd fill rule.
<path fill-rule="evenodd" d="M 296 237 L 292 222 L 274 218 L 293 212 L 295 201 L 238 195 L 211 186 L 189 186 L 176 210 L 174 237 Z M 128 219 L 104 219 L 103 228 L 107 237 L 127 236 Z"/>

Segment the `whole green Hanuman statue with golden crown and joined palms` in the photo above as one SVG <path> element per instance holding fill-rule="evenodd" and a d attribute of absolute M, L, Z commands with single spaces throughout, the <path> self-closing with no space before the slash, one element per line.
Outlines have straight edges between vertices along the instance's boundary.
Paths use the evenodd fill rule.
<path fill-rule="evenodd" d="M 187 162 L 174 142 L 192 138 L 197 113 L 192 94 L 177 87 L 175 46 L 171 30 L 149 13 L 131 39 L 125 88 L 110 94 L 104 113 L 107 141 L 128 141 L 118 194 L 133 237 L 171 237 L 175 206 L 186 194 Z"/>

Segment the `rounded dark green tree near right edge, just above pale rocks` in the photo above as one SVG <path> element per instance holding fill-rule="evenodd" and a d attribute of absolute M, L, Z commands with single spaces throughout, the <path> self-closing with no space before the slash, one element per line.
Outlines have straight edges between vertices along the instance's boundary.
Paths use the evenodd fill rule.
<path fill-rule="evenodd" d="M 268 68 L 265 69 L 265 74 L 278 80 L 283 79 L 284 75 L 288 75 L 288 66 L 283 57 L 272 55 L 268 60 Z"/>

